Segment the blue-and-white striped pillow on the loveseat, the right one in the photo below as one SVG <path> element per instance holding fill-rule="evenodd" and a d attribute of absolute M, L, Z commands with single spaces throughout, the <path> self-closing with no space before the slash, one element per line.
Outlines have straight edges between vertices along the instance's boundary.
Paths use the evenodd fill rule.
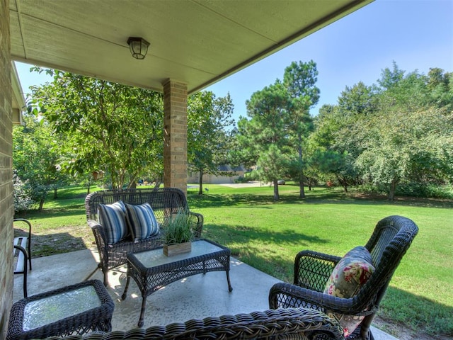
<path fill-rule="evenodd" d="M 134 241 L 147 239 L 159 234 L 159 224 L 149 203 L 142 205 L 126 204 L 127 225 Z"/>

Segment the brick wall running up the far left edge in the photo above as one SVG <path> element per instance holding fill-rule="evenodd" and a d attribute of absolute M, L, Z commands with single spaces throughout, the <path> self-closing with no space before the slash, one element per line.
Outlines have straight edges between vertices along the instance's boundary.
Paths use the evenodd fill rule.
<path fill-rule="evenodd" d="M 13 301 L 13 184 L 9 0 L 0 0 L 0 339 Z"/>

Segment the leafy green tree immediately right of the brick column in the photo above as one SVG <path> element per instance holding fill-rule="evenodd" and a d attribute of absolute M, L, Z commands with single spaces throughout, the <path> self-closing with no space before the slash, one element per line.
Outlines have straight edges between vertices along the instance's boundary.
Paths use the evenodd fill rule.
<path fill-rule="evenodd" d="M 201 91 L 188 98 L 188 162 L 199 174 L 200 195 L 203 174 L 217 174 L 219 165 L 227 162 L 233 110 L 229 94 L 216 98 L 211 91 Z"/>

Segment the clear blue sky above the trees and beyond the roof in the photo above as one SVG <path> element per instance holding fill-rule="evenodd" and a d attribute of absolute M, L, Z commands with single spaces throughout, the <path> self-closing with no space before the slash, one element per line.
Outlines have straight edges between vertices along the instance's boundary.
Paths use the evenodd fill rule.
<path fill-rule="evenodd" d="M 336 104 L 345 86 L 375 84 L 392 62 L 406 72 L 428 74 L 431 67 L 453 72 L 453 0 L 374 1 L 207 90 L 216 96 L 229 92 L 237 120 L 246 116 L 245 102 L 253 92 L 282 79 L 291 62 L 309 60 L 316 62 L 321 90 L 313 115 L 323 104 Z M 25 93 L 49 80 L 30 74 L 28 64 L 17 68 Z"/>

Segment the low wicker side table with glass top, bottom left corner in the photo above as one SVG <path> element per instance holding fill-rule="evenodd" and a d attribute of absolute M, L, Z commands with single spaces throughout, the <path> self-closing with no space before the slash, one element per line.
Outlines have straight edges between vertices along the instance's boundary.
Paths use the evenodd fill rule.
<path fill-rule="evenodd" d="M 6 340 L 111 331 L 114 308 L 100 280 L 26 297 L 11 308 Z"/>

